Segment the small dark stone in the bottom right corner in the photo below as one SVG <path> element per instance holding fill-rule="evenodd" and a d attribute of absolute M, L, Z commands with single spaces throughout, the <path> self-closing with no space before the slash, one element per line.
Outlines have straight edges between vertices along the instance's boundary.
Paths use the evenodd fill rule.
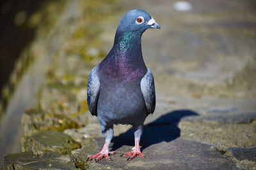
<path fill-rule="evenodd" d="M 228 148 L 225 153 L 239 169 L 256 169 L 256 148 Z"/>

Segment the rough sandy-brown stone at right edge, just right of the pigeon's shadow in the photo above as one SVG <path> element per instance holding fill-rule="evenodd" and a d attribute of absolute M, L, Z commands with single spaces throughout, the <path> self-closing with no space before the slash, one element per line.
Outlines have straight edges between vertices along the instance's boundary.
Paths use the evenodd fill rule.
<path fill-rule="evenodd" d="M 224 153 L 230 146 L 239 148 L 256 146 L 255 120 L 248 124 L 182 120 L 178 127 L 182 138 L 211 143 Z"/>

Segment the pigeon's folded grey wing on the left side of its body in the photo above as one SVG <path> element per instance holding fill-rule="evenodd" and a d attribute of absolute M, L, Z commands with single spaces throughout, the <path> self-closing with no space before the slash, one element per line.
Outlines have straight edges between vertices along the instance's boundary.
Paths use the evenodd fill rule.
<path fill-rule="evenodd" d="M 100 92 L 100 81 L 97 75 L 97 66 L 94 67 L 88 78 L 87 104 L 92 115 L 97 116 L 97 103 Z"/>

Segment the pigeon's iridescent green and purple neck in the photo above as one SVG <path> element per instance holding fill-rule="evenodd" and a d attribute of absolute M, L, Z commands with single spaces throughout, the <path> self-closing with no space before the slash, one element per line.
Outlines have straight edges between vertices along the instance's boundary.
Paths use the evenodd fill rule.
<path fill-rule="evenodd" d="M 141 34 L 116 32 L 115 43 L 99 66 L 99 72 L 111 82 L 137 81 L 147 73 L 141 52 Z"/>

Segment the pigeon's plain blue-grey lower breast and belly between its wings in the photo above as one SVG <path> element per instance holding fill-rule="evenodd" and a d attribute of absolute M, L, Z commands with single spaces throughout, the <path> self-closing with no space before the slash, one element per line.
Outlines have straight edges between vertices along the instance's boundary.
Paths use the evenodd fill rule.
<path fill-rule="evenodd" d="M 109 124 L 143 123 L 147 110 L 140 84 L 103 84 L 100 87 L 97 113 Z"/>

